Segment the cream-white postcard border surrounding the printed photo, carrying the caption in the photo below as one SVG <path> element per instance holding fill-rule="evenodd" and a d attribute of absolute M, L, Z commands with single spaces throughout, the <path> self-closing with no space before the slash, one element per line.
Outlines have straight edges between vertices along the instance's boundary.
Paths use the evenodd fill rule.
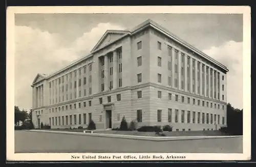
<path fill-rule="evenodd" d="M 71 155 L 149 155 L 153 153 L 14 153 L 14 14 L 15 13 L 227 13 L 243 14 L 243 153 L 157 153 L 154 155 L 186 156 L 184 159 L 165 160 L 249 160 L 251 156 L 251 17 L 249 6 L 91 6 L 91 7 L 8 7 L 7 8 L 7 160 L 71 160 Z M 97 157 L 97 156 L 96 156 Z M 75 160 L 75 159 L 72 159 Z M 76 159 L 81 160 L 81 159 Z M 100 160 L 100 159 L 87 159 Z M 103 160 L 103 159 L 101 159 Z M 105 159 L 135 160 L 135 159 Z M 137 159 L 138 160 L 138 159 Z M 139 159 L 143 160 L 143 159 Z M 159 160 L 159 159 L 146 159 Z M 160 159 L 161 160 L 161 159 Z"/>

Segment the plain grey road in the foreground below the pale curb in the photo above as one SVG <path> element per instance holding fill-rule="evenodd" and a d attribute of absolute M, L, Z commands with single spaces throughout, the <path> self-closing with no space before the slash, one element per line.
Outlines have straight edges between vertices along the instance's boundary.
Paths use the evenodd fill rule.
<path fill-rule="evenodd" d="M 15 153 L 242 153 L 242 137 L 141 141 L 74 134 L 15 131 Z"/>

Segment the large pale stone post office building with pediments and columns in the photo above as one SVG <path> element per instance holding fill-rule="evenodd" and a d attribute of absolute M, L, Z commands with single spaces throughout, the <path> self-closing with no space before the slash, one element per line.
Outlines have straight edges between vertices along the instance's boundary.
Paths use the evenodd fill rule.
<path fill-rule="evenodd" d="M 97 129 L 136 120 L 174 130 L 226 125 L 228 69 L 146 20 L 131 31 L 108 30 L 85 57 L 49 76 L 37 74 L 33 123 Z"/>

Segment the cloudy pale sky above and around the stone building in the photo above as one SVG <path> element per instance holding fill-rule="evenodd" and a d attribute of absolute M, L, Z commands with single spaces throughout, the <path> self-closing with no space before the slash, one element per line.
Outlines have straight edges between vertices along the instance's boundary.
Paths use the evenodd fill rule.
<path fill-rule="evenodd" d="M 146 19 L 225 65 L 227 102 L 243 108 L 242 14 L 15 14 L 15 105 L 32 107 L 37 73 L 86 56 L 106 30 L 132 29 Z"/>

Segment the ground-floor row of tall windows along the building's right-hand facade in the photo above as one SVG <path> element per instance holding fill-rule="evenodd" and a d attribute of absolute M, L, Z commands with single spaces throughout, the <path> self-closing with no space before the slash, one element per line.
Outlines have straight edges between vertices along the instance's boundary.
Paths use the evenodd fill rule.
<path fill-rule="evenodd" d="M 181 113 L 179 113 L 181 112 Z M 197 118 L 196 118 L 197 114 Z M 202 114 L 202 115 L 201 115 Z M 174 118 L 173 118 L 173 109 L 168 108 L 168 122 L 175 123 L 197 123 L 197 124 L 220 124 L 220 115 L 209 114 L 209 113 L 200 113 L 200 112 L 190 112 L 186 111 L 186 120 L 185 120 L 185 110 L 175 109 Z M 179 117 L 181 115 L 181 117 Z M 192 116 L 192 117 L 191 117 Z M 142 122 L 142 109 L 137 110 L 137 121 Z M 157 122 L 162 122 L 162 110 L 157 110 Z M 222 117 L 222 124 L 225 124 L 225 117 Z"/>

